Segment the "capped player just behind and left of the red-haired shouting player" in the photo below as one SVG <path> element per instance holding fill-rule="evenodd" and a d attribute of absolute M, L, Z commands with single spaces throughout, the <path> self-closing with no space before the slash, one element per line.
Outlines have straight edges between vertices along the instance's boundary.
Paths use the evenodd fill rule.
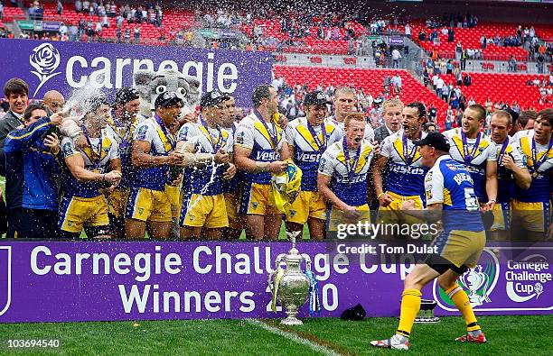
<path fill-rule="evenodd" d="M 324 119 L 328 104 L 323 92 L 308 93 L 304 99 L 306 117 L 286 126 L 286 141 L 294 163 L 302 170 L 301 191 L 286 215 L 289 231 L 309 227 L 312 239 L 323 239 L 326 203 L 317 191 L 317 170 L 323 152 L 334 142 L 342 141 L 343 132 L 331 120 Z"/>

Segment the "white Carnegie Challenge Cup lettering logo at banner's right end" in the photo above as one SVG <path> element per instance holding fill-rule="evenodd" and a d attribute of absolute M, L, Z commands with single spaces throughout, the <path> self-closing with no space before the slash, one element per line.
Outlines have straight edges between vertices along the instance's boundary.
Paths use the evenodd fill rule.
<path fill-rule="evenodd" d="M 520 261 L 509 260 L 505 279 L 507 296 L 516 303 L 538 299 L 551 281 L 548 259 L 540 254 L 530 255 Z"/>

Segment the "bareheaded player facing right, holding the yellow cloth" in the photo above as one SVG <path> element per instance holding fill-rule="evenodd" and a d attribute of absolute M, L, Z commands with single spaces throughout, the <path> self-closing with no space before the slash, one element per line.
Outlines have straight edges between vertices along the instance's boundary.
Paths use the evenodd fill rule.
<path fill-rule="evenodd" d="M 278 238 L 282 215 L 269 202 L 271 173 L 283 172 L 289 158 L 284 132 L 272 117 L 278 111 L 274 87 L 261 85 L 252 94 L 253 113 L 240 121 L 234 145 L 235 163 L 244 171 L 239 213 L 246 215 L 248 238 Z"/>

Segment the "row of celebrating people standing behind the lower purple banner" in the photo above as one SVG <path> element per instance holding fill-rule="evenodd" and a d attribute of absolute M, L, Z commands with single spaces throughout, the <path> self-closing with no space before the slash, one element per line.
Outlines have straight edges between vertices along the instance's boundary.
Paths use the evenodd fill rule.
<path fill-rule="evenodd" d="M 306 225 L 312 238 L 323 239 L 342 223 L 417 224 L 422 219 L 401 206 L 421 210 L 429 199 L 429 168 L 416 144 L 427 135 L 426 108 L 417 102 L 389 99 L 384 124 L 373 130 L 353 111 L 355 92 L 339 87 L 333 103 L 322 92 L 306 95 L 305 117 L 286 123 L 277 91 L 264 85 L 254 88 L 254 107 L 240 121 L 234 98 L 211 91 L 197 117 L 183 123 L 176 93 L 157 96 L 151 117 L 141 117 L 139 96 L 126 87 L 113 103 L 89 98 L 80 133 L 67 137 L 53 130 L 63 114 L 22 105 L 27 95 L 20 79 L 5 86 L 20 122 L 2 148 L 6 204 L 14 212 L 9 237 L 77 238 L 84 230 L 95 238 L 220 239 L 245 230 L 250 239 L 276 239 L 284 220 L 288 230 Z M 509 136 L 511 114 L 497 111 L 486 136 L 486 112 L 471 105 L 462 126 L 444 132 L 448 154 L 473 181 L 474 204 L 491 216 L 494 238 L 520 237 L 509 235 L 514 225 L 525 237 L 548 233 L 552 115 L 542 110 L 531 118 L 533 129 Z M 290 164 L 303 174 L 283 213 L 271 181 Z M 445 194 L 444 204 L 451 198 Z"/>

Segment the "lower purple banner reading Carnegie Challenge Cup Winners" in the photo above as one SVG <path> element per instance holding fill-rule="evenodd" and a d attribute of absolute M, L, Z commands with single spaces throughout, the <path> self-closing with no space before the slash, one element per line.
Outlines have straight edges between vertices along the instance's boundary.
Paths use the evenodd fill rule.
<path fill-rule="evenodd" d="M 0 242 L 0 323 L 282 317 L 270 311 L 267 272 L 289 248 L 289 242 Z M 414 259 L 329 257 L 323 242 L 300 242 L 298 249 L 313 260 L 320 316 L 339 316 L 358 303 L 370 316 L 398 315 Z M 514 262 L 501 248 L 487 248 L 461 283 L 479 315 L 550 314 L 551 257 L 548 247 L 530 247 Z M 436 297 L 436 315 L 457 314 L 436 285 L 423 297 Z"/>

